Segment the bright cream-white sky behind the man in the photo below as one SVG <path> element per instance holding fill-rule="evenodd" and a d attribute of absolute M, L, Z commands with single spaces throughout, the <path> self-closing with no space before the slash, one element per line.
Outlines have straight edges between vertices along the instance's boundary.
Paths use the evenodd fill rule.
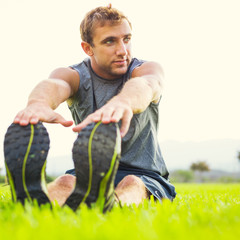
<path fill-rule="evenodd" d="M 239 0 L 83 2 L 0 0 L 1 143 L 33 87 L 86 57 L 79 24 L 86 12 L 109 2 L 132 22 L 134 57 L 164 69 L 160 142 L 240 140 Z M 65 103 L 56 111 L 71 119 Z M 71 128 L 45 126 L 52 155 L 71 151 Z M 1 148 L 0 166 L 3 159 Z"/>

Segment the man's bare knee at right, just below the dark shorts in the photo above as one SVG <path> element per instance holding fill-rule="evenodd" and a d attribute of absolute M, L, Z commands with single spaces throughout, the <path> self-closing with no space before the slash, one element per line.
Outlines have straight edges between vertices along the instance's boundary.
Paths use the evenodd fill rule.
<path fill-rule="evenodd" d="M 117 185 L 115 192 L 122 204 L 139 205 L 144 199 L 149 198 L 149 191 L 143 181 L 134 175 L 128 175 Z"/>

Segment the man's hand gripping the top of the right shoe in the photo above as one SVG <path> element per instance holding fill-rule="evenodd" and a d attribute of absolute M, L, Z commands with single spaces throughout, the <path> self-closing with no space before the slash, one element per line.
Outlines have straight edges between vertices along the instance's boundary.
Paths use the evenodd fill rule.
<path fill-rule="evenodd" d="M 129 129 L 133 111 L 126 101 L 121 100 L 118 96 L 112 98 L 103 107 L 87 116 L 80 124 L 73 128 L 74 132 L 80 132 L 92 122 L 102 121 L 103 124 L 110 122 L 119 122 L 122 120 L 120 129 L 121 136 L 124 137 Z"/>

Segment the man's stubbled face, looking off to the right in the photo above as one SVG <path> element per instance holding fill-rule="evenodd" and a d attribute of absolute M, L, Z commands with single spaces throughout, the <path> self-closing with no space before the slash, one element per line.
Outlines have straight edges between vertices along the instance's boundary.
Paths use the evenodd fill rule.
<path fill-rule="evenodd" d="M 131 28 L 127 20 L 117 25 L 98 26 L 93 34 L 91 65 L 106 79 L 125 74 L 131 62 Z"/>

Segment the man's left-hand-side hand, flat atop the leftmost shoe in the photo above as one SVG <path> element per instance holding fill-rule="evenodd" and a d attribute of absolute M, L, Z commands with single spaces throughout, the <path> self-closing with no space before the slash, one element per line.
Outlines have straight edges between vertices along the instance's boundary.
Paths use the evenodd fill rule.
<path fill-rule="evenodd" d="M 29 123 L 37 124 L 39 121 L 60 123 L 64 127 L 70 127 L 73 124 L 73 121 L 65 120 L 60 114 L 54 112 L 47 104 L 41 102 L 29 104 L 16 115 L 13 122 L 21 126 L 26 126 Z"/>

